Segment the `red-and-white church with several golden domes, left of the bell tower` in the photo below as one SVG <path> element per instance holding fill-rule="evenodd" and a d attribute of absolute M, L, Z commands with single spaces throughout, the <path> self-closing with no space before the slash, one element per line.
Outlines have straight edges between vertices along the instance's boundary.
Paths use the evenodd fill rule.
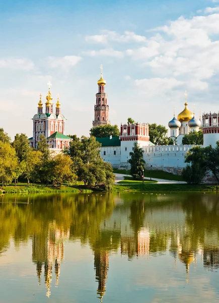
<path fill-rule="evenodd" d="M 44 135 L 47 139 L 50 151 L 59 153 L 65 147 L 69 147 L 71 138 L 65 135 L 65 118 L 61 114 L 61 105 L 59 96 L 55 111 L 53 113 L 52 94 L 50 91 L 51 83 L 48 83 L 49 89 L 46 96 L 45 112 L 43 113 L 42 95 L 38 103 L 37 114 L 32 118 L 33 120 L 33 137 L 29 138 L 30 146 L 37 148 L 40 135 Z"/>

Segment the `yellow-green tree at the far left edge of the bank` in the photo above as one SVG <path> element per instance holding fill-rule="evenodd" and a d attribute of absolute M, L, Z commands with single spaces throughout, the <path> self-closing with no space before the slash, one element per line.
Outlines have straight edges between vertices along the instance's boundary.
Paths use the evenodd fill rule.
<path fill-rule="evenodd" d="M 9 184 L 16 177 L 18 158 L 15 148 L 9 142 L 0 141 L 0 180 L 2 184 Z"/>

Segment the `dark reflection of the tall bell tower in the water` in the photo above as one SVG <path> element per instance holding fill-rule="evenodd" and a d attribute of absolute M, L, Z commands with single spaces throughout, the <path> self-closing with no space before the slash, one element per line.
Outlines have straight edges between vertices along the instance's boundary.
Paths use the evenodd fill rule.
<path fill-rule="evenodd" d="M 94 251 L 94 268 L 96 270 L 96 280 L 98 281 L 97 294 L 102 302 L 102 298 L 106 293 L 106 279 L 109 269 L 109 253 L 106 250 Z"/>

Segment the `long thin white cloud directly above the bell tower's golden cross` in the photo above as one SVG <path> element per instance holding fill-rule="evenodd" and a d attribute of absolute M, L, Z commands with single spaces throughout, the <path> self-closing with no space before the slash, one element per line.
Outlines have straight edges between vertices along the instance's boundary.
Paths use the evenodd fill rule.
<path fill-rule="evenodd" d="M 115 31 L 102 30 L 100 35 L 86 36 L 85 40 L 95 43 L 108 43 L 108 42 L 145 42 L 145 36 L 136 35 L 134 32 L 125 31 L 124 34 L 119 34 Z"/>

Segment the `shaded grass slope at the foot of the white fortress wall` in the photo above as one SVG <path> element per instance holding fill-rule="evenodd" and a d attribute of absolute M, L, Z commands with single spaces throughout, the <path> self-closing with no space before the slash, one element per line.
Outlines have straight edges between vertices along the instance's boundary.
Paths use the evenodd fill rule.
<path fill-rule="evenodd" d="M 113 169 L 113 172 L 115 174 L 124 174 L 126 175 L 125 169 Z M 128 175 L 130 175 L 130 170 L 127 171 Z M 145 170 L 144 171 L 144 177 L 152 177 L 156 180 L 158 179 L 165 179 L 165 180 L 172 180 L 172 181 L 183 181 L 182 176 L 174 175 L 172 173 L 168 173 L 161 170 Z"/>

